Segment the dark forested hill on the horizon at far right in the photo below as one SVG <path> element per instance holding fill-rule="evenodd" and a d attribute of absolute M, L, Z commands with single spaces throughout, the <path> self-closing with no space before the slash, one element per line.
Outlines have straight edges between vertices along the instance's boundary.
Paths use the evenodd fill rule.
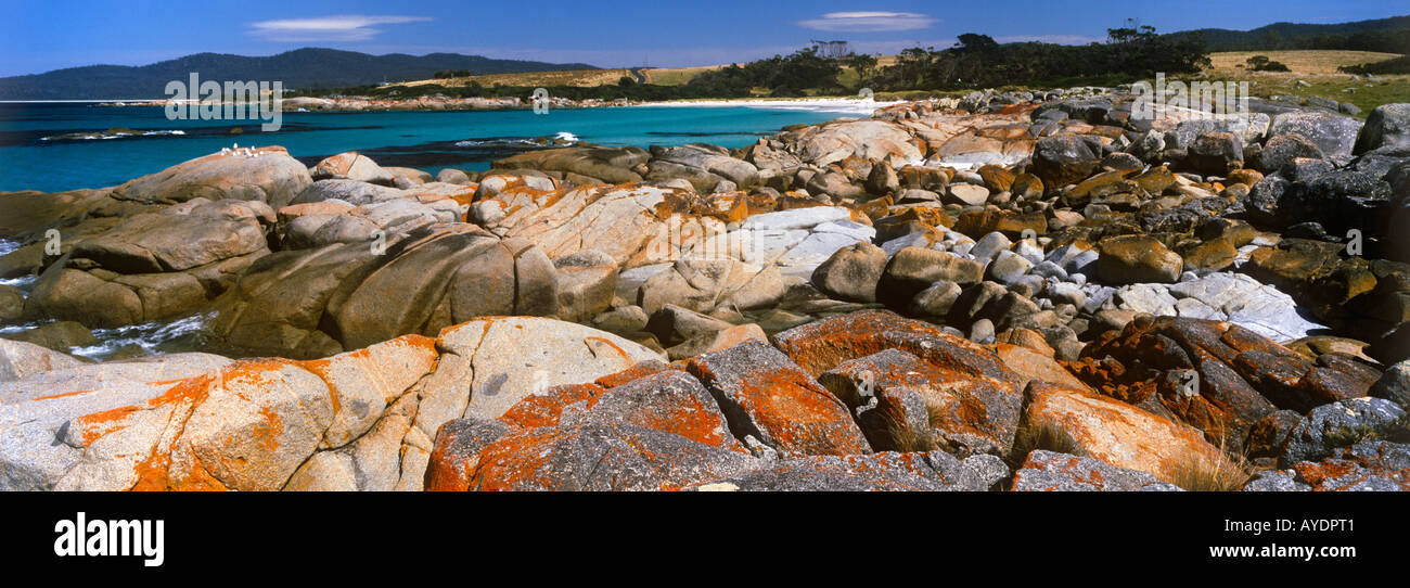
<path fill-rule="evenodd" d="M 1197 28 L 1169 37 L 1200 35 L 1210 51 L 1354 49 L 1410 52 L 1410 16 L 1338 24 L 1273 23 L 1251 31 Z"/>

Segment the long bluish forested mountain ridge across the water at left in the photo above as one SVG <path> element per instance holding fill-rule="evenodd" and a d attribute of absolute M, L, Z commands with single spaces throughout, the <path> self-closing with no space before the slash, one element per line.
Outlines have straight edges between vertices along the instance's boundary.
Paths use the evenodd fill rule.
<path fill-rule="evenodd" d="M 587 63 L 489 59 L 478 55 L 368 55 L 354 51 L 305 48 L 250 58 L 196 54 L 142 66 L 90 65 L 28 76 L 0 78 L 0 100 L 161 99 L 166 82 L 202 80 L 283 82 L 286 89 L 361 86 L 431 78 L 436 72 L 470 69 L 481 73 L 598 69 Z"/>

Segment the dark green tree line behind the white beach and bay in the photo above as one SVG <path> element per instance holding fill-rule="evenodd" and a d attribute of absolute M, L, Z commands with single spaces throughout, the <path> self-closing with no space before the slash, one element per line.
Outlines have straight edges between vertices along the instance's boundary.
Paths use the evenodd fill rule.
<path fill-rule="evenodd" d="M 634 83 L 623 79 L 594 87 L 556 86 L 550 94 L 582 99 L 674 100 L 732 99 L 746 96 L 836 96 L 862 87 L 876 92 L 964 90 L 998 86 L 1114 85 L 1149 79 L 1156 72 L 1196 73 L 1208 65 L 1200 38 L 1158 35 L 1152 27 L 1111 28 L 1105 42 L 1056 45 L 1046 42 L 998 44 L 988 35 L 966 32 L 945 49 L 911 48 L 894 63 L 860 54 L 825 56 L 818 47 L 774 55 L 749 63 L 698 73 L 680 86 Z M 440 78 L 440 76 L 437 76 Z M 310 89 L 302 96 L 375 97 L 508 97 L 527 96 L 533 87 L 492 86 L 358 86 Z"/>

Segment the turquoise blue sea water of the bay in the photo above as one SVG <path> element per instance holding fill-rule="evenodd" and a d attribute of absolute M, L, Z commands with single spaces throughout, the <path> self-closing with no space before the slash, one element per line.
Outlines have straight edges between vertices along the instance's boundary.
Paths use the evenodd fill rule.
<path fill-rule="evenodd" d="M 744 147 L 790 124 L 842 114 L 746 107 L 556 109 L 508 111 L 283 113 L 283 127 L 261 133 L 258 120 L 168 120 L 161 107 L 85 103 L 0 103 L 0 190 L 59 192 L 123 183 L 220 151 L 282 145 L 306 164 L 361 151 L 382 165 L 489 169 L 529 147 L 526 140 L 571 134 L 601 145 L 711 142 Z M 96 140 L 49 140 L 68 133 L 182 131 Z M 231 134 L 238 127 L 243 134 Z M 564 137 L 564 135 L 560 135 Z"/>

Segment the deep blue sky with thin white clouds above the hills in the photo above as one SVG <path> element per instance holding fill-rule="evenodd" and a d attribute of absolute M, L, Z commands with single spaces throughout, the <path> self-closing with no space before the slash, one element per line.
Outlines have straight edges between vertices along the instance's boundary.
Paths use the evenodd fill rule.
<path fill-rule="evenodd" d="M 963 32 L 1000 42 L 1091 42 L 1127 18 L 1172 32 L 1407 13 L 1404 0 L 0 0 L 0 76 L 300 47 L 664 68 L 788 54 L 811 39 L 890 55 L 950 47 Z"/>

